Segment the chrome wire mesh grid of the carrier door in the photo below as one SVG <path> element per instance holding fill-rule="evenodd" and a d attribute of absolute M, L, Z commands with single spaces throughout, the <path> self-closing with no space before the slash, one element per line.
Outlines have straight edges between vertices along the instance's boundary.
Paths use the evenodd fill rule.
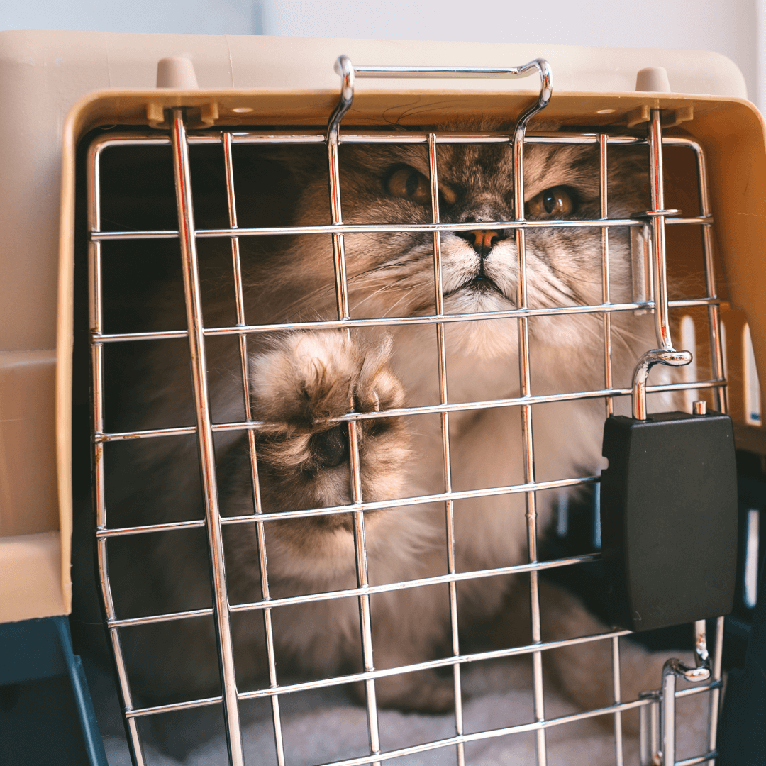
<path fill-rule="evenodd" d="M 535 732 L 537 762 L 542 766 L 546 763 L 545 732 L 548 728 L 558 725 L 594 718 L 600 715 L 614 717 L 614 759 L 618 766 L 623 764 L 623 712 L 630 709 L 641 709 L 642 715 L 656 706 L 659 699 L 657 692 L 652 692 L 640 699 L 623 701 L 620 694 L 620 647 L 618 638 L 628 633 L 627 630 L 614 630 L 608 633 L 575 637 L 568 640 L 542 640 L 540 626 L 540 599 L 538 593 L 538 574 L 546 569 L 562 568 L 576 565 L 585 561 L 595 561 L 600 558 L 598 553 L 558 558 L 552 561 L 540 561 L 538 557 L 538 529 L 536 512 L 536 493 L 546 489 L 563 489 L 573 486 L 588 486 L 598 483 L 598 476 L 581 476 L 575 479 L 558 479 L 538 481 L 535 477 L 535 447 L 533 439 L 532 406 L 548 402 L 575 401 L 589 398 L 603 399 L 605 413 L 614 411 L 614 399 L 630 396 L 630 388 L 615 388 L 611 368 L 611 318 L 616 312 L 631 312 L 640 309 L 655 309 L 653 300 L 640 303 L 612 303 L 610 294 L 609 275 L 609 233 L 611 228 L 627 228 L 643 226 L 643 221 L 634 219 L 608 218 L 607 209 L 607 163 L 610 147 L 649 145 L 650 149 L 660 146 L 685 146 L 691 149 L 696 157 L 696 172 L 699 183 L 699 216 L 693 218 L 669 218 L 660 222 L 661 226 L 697 226 L 702 228 L 702 242 L 705 256 L 705 286 L 704 296 L 696 299 L 671 300 L 667 306 L 673 309 L 683 309 L 693 306 L 706 307 L 709 324 L 710 358 L 713 370 L 712 378 L 702 381 L 683 381 L 683 383 L 666 383 L 648 388 L 648 391 L 679 391 L 681 389 L 712 390 L 715 407 L 725 411 L 725 378 L 722 369 L 722 350 L 719 336 L 719 299 L 715 293 L 715 275 L 713 272 L 712 255 L 712 215 L 709 207 L 707 177 L 705 173 L 705 157 L 701 146 L 691 139 L 677 137 L 662 137 L 659 130 L 659 119 L 655 120 L 657 130 L 648 138 L 635 135 L 620 135 L 616 133 L 538 133 L 525 135 L 522 130 L 516 136 L 499 133 L 455 133 L 450 131 L 408 131 L 349 129 L 339 133 L 339 122 L 342 111 L 329 131 L 329 135 L 316 129 L 293 129 L 282 131 L 245 132 L 200 132 L 187 134 L 185 114 L 183 110 L 173 110 L 169 115 L 169 135 L 159 131 L 151 133 L 129 133 L 101 136 L 93 142 L 87 158 L 88 186 L 88 215 L 90 229 L 90 327 L 91 327 L 91 360 L 93 385 L 93 449 L 94 449 L 94 502 L 97 519 L 97 556 L 100 571 L 100 583 L 103 602 L 106 610 L 106 621 L 111 640 L 117 674 L 119 676 L 119 693 L 123 702 L 123 712 L 126 727 L 129 732 L 129 747 L 136 764 L 144 764 L 138 721 L 146 716 L 159 715 L 165 712 L 194 709 L 208 705 L 223 705 L 228 751 L 231 764 L 244 764 L 244 751 L 241 738 L 241 723 L 239 705 L 249 699 L 269 699 L 273 718 L 273 735 L 277 763 L 286 763 L 283 732 L 280 722 L 280 697 L 290 692 L 322 689 L 348 683 L 362 683 L 365 687 L 366 715 L 368 725 L 368 755 L 357 758 L 347 758 L 334 761 L 332 766 L 356 766 L 356 764 L 378 764 L 404 755 L 436 748 L 453 748 L 455 758 L 460 766 L 466 762 L 464 745 L 470 741 L 494 738 L 522 732 Z M 499 312 L 445 314 L 444 292 L 442 287 L 440 234 L 445 231 L 468 231 L 476 228 L 476 224 L 441 223 L 439 214 L 439 184 L 438 184 L 438 147 L 448 143 L 511 143 L 516 152 L 516 218 L 512 221 L 496 221 L 483 224 L 486 228 L 512 230 L 516 237 L 519 254 L 519 287 L 516 296 L 516 308 Z M 217 144 L 223 149 L 229 227 L 221 229 L 195 228 L 193 201 L 191 195 L 188 147 L 198 144 Z M 232 146 L 236 144 L 273 145 L 273 144 L 326 144 L 329 152 L 329 184 L 330 224 L 300 227 L 270 227 L 270 228 L 240 228 L 237 226 L 237 205 L 234 190 L 234 165 L 232 162 Z M 430 224 L 344 224 L 341 207 L 341 178 L 338 162 L 338 147 L 342 143 L 371 144 L 371 143 L 420 143 L 427 149 L 428 167 L 430 171 L 430 205 L 432 220 Z M 558 145 L 594 145 L 598 150 L 599 182 L 601 189 L 601 217 L 593 220 L 555 220 L 534 221 L 524 218 L 523 187 L 523 150 L 527 145 L 548 143 Z M 103 231 L 100 212 L 100 158 L 105 149 L 125 146 L 171 146 L 175 172 L 175 188 L 178 205 L 178 229 L 175 231 Z M 659 175 L 653 180 L 653 188 L 663 185 L 662 167 Z M 656 207 L 656 205 L 655 205 Z M 660 205 L 661 207 L 661 205 Z M 539 227 L 588 227 L 601 231 L 601 275 L 602 302 L 591 306 L 561 306 L 556 308 L 530 308 L 525 273 L 525 233 Z M 373 233 L 381 231 L 425 231 L 433 235 L 433 270 L 434 270 L 434 305 L 435 311 L 427 316 L 398 316 L 373 317 L 354 319 L 349 312 L 348 278 L 345 268 L 344 236 L 349 233 Z M 269 237 L 280 234 L 322 235 L 332 236 L 332 252 L 336 274 L 337 319 L 316 319 L 307 322 L 274 323 L 248 325 L 245 316 L 240 241 L 241 237 Z M 200 279 L 198 273 L 198 258 L 196 241 L 205 237 L 225 237 L 231 242 L 231 263 L 234 274 L 234 293 L 236 301 L 237 323 L 232 326 L 205 326 L 202 321 Z M 185 306 L 188 319 L 188 330 L 159 331 L 159 332 L 103 332 L 103 279 L 102 279 L 102 244 L 110 241 L 128 241 L 144 239 L 179 239 L 183 260 L 183 277 L 185 286 Z M 660 299 L 661 300 L 661 299 Z M 658 313 L 660 309 L 658 308 Z M 561 316 L 574 313 L 591 313 L 600 315 L 603 321 L 604 349 L 604 386 L 599 390 L 575 391 L 565 394 L 535 395 L 530 385 L 529 359 L 529 319 L 535 316 Z M 516 319 L 519 327 L 519 378 L 520 395 L 516 398 L 504 398 L 486 401 L 450 402 L 447 392 L 447 355 L 445 352 L 444 328 L 450 322 L 483 321 L 489 319 Z M 260 502 L 258 460 L 255 434 L 265 430 L 269 424 L 254 421 L 250 410 L 249 369 L 248 369 L 248 339 L 258 333 L 284 332 L 286 330 L 311 329 L 341 329 L 349 333 L 352 329 L 376 326 L 394 325 L 430 325 L 434 326 L 437 339 L 437 359 L 439 376 L 438 404 L 427 406 L 407 407 L 377 411 L 374 413 L 357 412 L 349 407 L 349 412 L 334 420 L 348 425 L 349 434 L 349 474 L 351 480 L 350 505 L 329 506 L 315 509 L 300 509 L 280 512 L 278 514 L 264 513 Z M 238 339 L 241 362 L 241 376 L 244 385 L 242 392 L 245 419 L 240 422 L 214 423 L 209 404 L 207 362 L 205 357 L 206 339 L 215 336 L 234 336 Z M 191 372 L 195 398 L 196 425 L 184 427 L 165 427 L 152 430 L 134 430 L 128 432 L 109 433 L 104 427 L 104 361 L 103 351 L 107 344 L 120 342 L 136 342 L 147 340 L 164 340 L 187 338 L 191 351 Z M 524 444 L 524 481 L 510 486 L 495 486 L 483 489 L 457 491 L 453 489 L 450 471 L 450 414 L 460 411 L 476 411 L 487 408 L 519 408 L 522 414 L 522 441 Z M 428 495 L 411 496 L 404 499 L 371 502 L 362 496 L 360 480 L 359 450 L 357 444 L 358 423 L 367 418 L 400 417 L 418 414 L 435 414 L 441 424 L 441 452 L 444 463 L 444 491 Z M 248 438 L 250 455 L 250 471 L 254 486 L 254 513 L 240 516 L 221 517 L 218 506 L 218 489 L 214 465 L 214 434 L 224 431 L 244 431 Z M 196 434 L 199 445 L 199 460 L 205 497 L 205 519 L 185 522 L 165 522 L 133 527 L 113 528 L 107 519 L 106 497 L 104 491 L 104 446 L 110 442 L 133 439 L 162 438 L 179 434 Z M 522 494 L 526 503 L 527 543 L 529 561 L 518 565 L 510 565 L 481 571 L 457 571 L 455 563 L 455 529 L 454 502 L 463 499 L 473 499 L 486 496 L 506 496 Z M 398 506 L 415 506 L 440 502 L 444 505 L 447 529 L 447 573 L 444 575 L 419 578 L 397 582 L 394 584 L 372 585 L 368 578 L 367 550 L 365 543 L 365 512 L 378 509 L 391 509 Z M 355 547 L 355 565 L 357 583 L 355 588 L 337 591 L 305 594 L 293 597 L 272 597 L 270 595 L 267 545 L 264 535 L 264 524 L 273 519 L 309 519 L 332 514 L 352 514 L 353 538 Z M 224 547 L 221 532 L 225 525 L 251 525 L 255 523 L 258 542 L 258 561 L 260 565 L 261 594 L 260 600 L 250 603 L 232 604 L 228 598 L 227 578 L 224 568 Z M 107 541 L 126 535 L 146 535 L 155 532 L 169 532 L 181 529 L 205 529 L 208 538 L 208 548 L 211 557 L 211 588 L 213 605 L 203 609 L 178 611 L 172 614 L 153 614 L 146 617 L 119 617 L 113 603 L 110 577 L 107 561 Z M 504 650 L 483 651 L 478 653 L 461 653 L 458 614 L 457 614 L 457 584 L 476 578 L 489 578 L 497 575 L 527 573 L 529 575 L 531 610 L 531 635 L 529 643 L 520 647 Z M 450 656 L 437 660 L 414 663 L 408 666 L 376 669 L 374 663 L 373 640 L 371 628 L 370 598 L 374 594 L 401 588 L 419 588 L 427 584 L 446 584 L 450 599 Z M 312 679 L 301 683 L 280 684 L 277 677 L 276 648 L 274 641 L 272 614 L 275 609 L 295 604 L 308 604 L 316 601 L 328 601 L 355 597 L 358 600 L 358 611 L 361 625 L 362 657 L 364 669 L 358 673 L 347 673 L 326 679 Z M 233 614 L 241 612 L 258 612 L 263 615 L 266 635 L 268 686 L 263 689 L 242 692 L 237 689 L 237 679 L 234 670 L 234 653 L 231 644 L 231 622 Z M 189 699 L 154 707 L 136 707 L 133 704 L 133 694 L 129 685 L 126 662 L 123 658 L 121 636 L 123 631 L 132 627 L 172 620 L 187 620 L 193 617 L 214 617 L 215 630 L 218 640 L 218 661 L 221 669 L 221 689 L 219 696 L 205 699 Z M 719 706 L 719 690 L 721 686 L 721 656 L 722 656 L 723 620 L 719 618 L 715 635 L 714 661 L 712 679 L 704 686 L 683 689 L 676 692 L 676 697 L 689 696 L 702 692 L 710 692 L 709 717 L 709 751 L 696 758 L 678 761 L 683 766 L 704 763 L 715 757 L 716 720 Z M 612 656 L 612 691 L 614 704 L 600 709 L 591 709 L 573 715 L 554 719 L 545 718 L 543 698 L 542 653 L 548 650 L 572 646 L 578 643 L 604 641 L 610 645 Z M 524 725 L 513 725 L 482 732 L 466 733 L 463 731 L 463 709 L 461 668 L 466 663 L 489 660 L 509 656 L 530 656 L 533 670 L 533 721 Z M 378 705 L 375 696 L 377 679 L 399 673 L 411 673 L 423 669 L 450 668 L 453 672 L 454 687 L 454 735 L 428 741 L 420 745 L 385 751 L 381 749 L 378 732 Z M 658 679 L 659 682 L 659 679 Z M 656 732 L 654 739 L 656 740 Z M 643 747 L 643 745 L 642 745 Z M 712 762 L 712 761 L 710 761 Z"/>

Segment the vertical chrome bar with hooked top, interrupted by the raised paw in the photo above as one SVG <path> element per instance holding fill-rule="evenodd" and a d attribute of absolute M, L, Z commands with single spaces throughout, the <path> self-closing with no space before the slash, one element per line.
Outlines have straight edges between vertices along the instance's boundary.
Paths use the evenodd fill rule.
<path fill-rule="evenodd" d="M 338 136 L 343 115 L 349 110 L 354 98 L 354 68 L 346 56 L 339 57 L 336 72 L 341 76 L 341 95 L 336 110 L 330 116 L 327 126 L 327 155 L 329 161 L 330 219 L 332 226 L 343 223 L 340 198 L 340 166 L 338 161 Z M 338 319 L 349 319 L 349 285 L 345 267 L 345 243 L 343 234 L 332 234 L 332 264 L 336 280 L 336 306 Z M 351 341 L 351 330 L 346 328 L 345 335 Z M 354 410 L 353 398 L 349 409 Z M 349 421 L 349 483 L 351 484 L 352 502 L 362 503 L 362 469 L 359 464 L 358 424 Z M 367 588 L 369 576 L 367 568 L 367 542 L 365 539 L 365 515 L 361 510 L 353 512 L 354 552 L 356 558 L 356 584 L 358 588 Z M 362 662 L 365 671 L 375 669 L 372 653 L 372 615 L 370 597 L 359 594 L 359 625 L 362 633 Z M 378 731 L 378 701 L 375 694 L 375 679 L 365 679 L 365 701 L 367 705 L 367 733 L 370 755 L 381 751 L 380 732 Z M 378 761 L 372 761 L 377 766 Z"/>

